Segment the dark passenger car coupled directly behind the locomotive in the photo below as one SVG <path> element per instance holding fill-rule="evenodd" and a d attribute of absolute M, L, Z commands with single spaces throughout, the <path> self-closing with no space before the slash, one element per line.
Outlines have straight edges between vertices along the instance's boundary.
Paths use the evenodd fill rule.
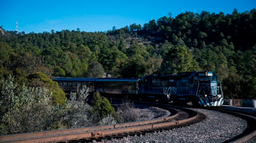
<path fill-rule="evenodd" d="M 100 94 L 137 95 L 139 78 L 97 78 L 95 89 Z"/>

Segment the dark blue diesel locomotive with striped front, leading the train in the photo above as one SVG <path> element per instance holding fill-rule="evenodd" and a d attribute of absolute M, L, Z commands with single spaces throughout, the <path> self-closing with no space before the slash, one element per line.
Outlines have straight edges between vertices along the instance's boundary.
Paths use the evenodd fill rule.
<path fill-rule="evenodd" d="M 168 102 L 201 106 L 221 106 L 223 92 L 213 72 L 183 72 L 151 75 L 141 79 L 140 96 L 165 99 Z"/>

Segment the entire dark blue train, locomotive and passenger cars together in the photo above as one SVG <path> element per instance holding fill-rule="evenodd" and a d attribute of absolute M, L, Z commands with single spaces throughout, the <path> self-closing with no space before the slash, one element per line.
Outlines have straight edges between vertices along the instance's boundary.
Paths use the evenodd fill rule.
<path fill-rule="evenodd" d="M 155 100 L 183 104 L 217 107 L 223 104 L 221 83 L 214 72 L 181 72 L 152 74 L 143 78 L 62 78 L 52 79 L 66 93 L 77 91 L 84 85 L 89 93 L 136 100 Z"/>

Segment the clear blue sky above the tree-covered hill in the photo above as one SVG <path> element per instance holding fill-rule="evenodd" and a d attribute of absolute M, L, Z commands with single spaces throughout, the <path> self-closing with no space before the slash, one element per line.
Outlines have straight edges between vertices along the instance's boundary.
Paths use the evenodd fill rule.
<path fill-rule="evenodd" d="M 51 32 L 51 30 L 76 30 L 95 32 L 141 24 L 172 12 L 176 17 L 181 12 L 224 12 L 231 14 L 256 8 L 256 0 L 169 0 L 169 1 L 57 1 L 57 0 L 0 0 L 0 25 L 5 30 L 19 32 Z"/>

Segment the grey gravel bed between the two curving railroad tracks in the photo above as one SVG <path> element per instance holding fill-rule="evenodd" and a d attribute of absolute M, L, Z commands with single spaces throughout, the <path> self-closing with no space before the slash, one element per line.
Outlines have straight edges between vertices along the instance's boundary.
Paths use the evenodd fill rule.
<path fill-rule="evenodd" d="M 128 136 L 122 140 L 107 142 L 224 142 L 241 134 L 247 126 L 246 120 L 233 115 L 194 109 L 207 116 L 202 122 L 161 133 L 148 133 L 143 136 Z"/>

